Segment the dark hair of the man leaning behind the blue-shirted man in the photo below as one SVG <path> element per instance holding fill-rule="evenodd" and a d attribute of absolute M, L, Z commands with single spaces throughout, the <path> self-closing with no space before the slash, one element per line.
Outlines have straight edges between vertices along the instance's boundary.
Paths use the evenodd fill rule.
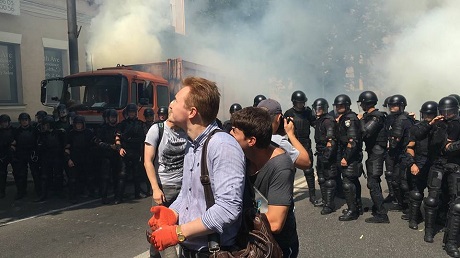
<path fill-rule="evenodd" d="M 267 148 L 272 138 L 272 120 L 266 109 L 246 107 L 232 114 L 232 126 L 243 131 L 246 137 L 255 137 L 257 148 Z"/>

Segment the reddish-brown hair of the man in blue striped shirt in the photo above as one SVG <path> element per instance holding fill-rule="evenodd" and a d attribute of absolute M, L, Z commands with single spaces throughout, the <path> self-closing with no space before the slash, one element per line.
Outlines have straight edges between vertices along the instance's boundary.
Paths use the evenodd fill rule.
<path fill-rule="evenodd" d="M 185 105 L 188 108 L 195 107 L 206 124 L 214 121 L 220 104 L 220 93 L 216 83 L 201 77 L 187 77 L 182 84 L 190 88 Z"/>

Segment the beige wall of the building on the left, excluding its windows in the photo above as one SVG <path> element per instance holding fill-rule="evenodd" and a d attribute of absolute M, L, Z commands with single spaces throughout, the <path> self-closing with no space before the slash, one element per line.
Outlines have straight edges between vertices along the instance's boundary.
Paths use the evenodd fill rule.
<path fill-rule="evenodd" d="M 76 0 L 76 6 L 77 25 L 81 26 L 78 37 L 79 70 L 86 71 L 85 45 L 91 18 L 97 13 L 97 6 L 93 0 Z M 61 74 L 68 75 L 67 32 L 65 0 L 21 0 L 19 15 L 0 13 L 0 45 L 13 44 L 19 55 L 16 69 L 18 101 L 0 101 L 0 114 L 8 114 L 16 121 L 21 112 L 27 112 L 34 117 L 38 110 L 51 111 L 40 102 L 40 82 L 45 78 L 45 48 L 62 51 Z M 0 90 L 1 87 L 5 86 L 0 85 Z"/>

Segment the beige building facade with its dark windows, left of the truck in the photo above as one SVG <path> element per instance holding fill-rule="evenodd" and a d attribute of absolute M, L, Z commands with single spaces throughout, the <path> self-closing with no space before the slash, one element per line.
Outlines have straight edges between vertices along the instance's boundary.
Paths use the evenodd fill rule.
<path fill-rule="evenodd" d="M 12 121 L 27 112 L 51 112 L 40 102 L 41 81 L 69 74 L 65 0 L 0 0 L 0 114 Z M 86 71 L 85 44 L 94 0 L 75 0 L 79 70 Z"/>

